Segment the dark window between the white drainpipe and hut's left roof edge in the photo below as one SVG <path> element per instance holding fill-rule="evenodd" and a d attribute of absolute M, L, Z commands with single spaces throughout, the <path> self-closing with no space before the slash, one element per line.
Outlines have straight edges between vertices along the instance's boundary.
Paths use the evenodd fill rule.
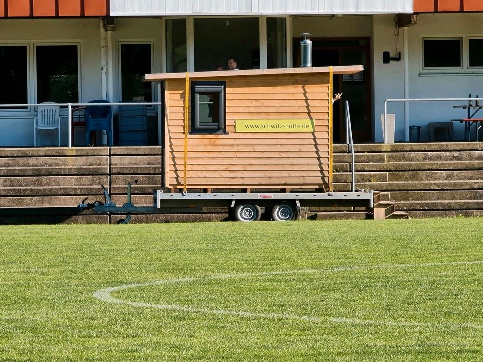
<path fill-rule="evenodd" d="M 152 73 L 151 44 L 121 44 L 121 101 L 152 102 L 152 82 L 142 77 Z"/>

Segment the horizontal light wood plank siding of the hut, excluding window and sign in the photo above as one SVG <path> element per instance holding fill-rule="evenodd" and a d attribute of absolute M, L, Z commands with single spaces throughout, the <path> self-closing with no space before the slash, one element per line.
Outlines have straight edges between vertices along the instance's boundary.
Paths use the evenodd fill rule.
<path fill-rule="evenodd" d="M 226 80 L 227 134 L 188 136 L 188 188 L 328 187 L 328 74 L 209 80 Z M 170 79 L 167 84 L 168 185 L 176 189 L 183 187 L 184 176 L 185 80 Z M 236 119 L 309 118 L 315 123 L 313 133 L 235 132 Z"/>

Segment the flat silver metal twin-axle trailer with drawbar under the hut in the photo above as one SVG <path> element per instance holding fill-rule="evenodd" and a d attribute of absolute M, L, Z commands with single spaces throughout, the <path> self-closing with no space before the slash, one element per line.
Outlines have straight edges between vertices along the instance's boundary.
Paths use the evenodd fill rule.
<path fill-rule="evenodd" d="M 102 186 L 102 185 L 101 185 Z M 232 220 L 257 221 L 262 217 L 275 221 L 296 220 L 303 207 L 350 206 L 373 208 L 374 192 L 290 192 L 290 193 L 163 193 L 153 190 L 153 206 L 135 206 L 131 201 L 132 183 L 127 186 L 127 202 L 117 206 L 107 189 L 104 202 L 83 200 L 79 207 L 96 213 L 125 214 L 118 223 L 129 223 L 131 214 L 195 214 L 205 208 L 228 208 Z"/>

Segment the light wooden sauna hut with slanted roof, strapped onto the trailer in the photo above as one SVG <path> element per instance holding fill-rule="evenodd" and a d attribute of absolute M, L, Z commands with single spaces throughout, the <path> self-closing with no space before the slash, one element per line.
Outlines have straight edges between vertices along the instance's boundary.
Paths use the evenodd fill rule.
<path fill-rule="evenodd" d="M 362 70 L 146 74 L 164 88 L 163 186 L 331 191 L 332 75 Z"/>

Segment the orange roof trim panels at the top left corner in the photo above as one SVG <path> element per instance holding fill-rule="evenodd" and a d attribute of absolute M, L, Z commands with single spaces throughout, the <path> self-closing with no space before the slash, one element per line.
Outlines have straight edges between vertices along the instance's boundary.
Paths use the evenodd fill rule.
<path fill-rule="evenodd" d="M 108 10 L 109 0 L 0 0 L 2 18 L 97 17 Z"/>

